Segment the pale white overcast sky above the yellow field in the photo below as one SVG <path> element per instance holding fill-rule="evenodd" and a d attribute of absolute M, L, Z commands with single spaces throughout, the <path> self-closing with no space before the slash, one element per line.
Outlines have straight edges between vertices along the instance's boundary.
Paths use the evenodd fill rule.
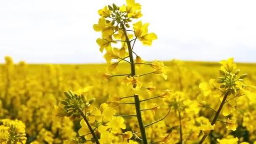
<path fill-rule="evenodd" d="M 104 5 L 125 0 L 0 0 L 0 63 L 4 56 L 29 63 L 104 62 L 93 24 Z M 256 62 L 255 0 L 136 0 L 143 22 L 158 36 L 137 43 L 146 60 L 235 57 Z"/>

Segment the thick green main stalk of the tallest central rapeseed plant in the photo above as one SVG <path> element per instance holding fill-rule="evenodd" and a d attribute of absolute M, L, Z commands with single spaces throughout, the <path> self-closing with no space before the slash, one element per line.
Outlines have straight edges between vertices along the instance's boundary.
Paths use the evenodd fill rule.
<path fill-rule="evenodd" d="M 129 58 L 130 58 L 130 62 L 131 62 L 131 76 L 135 76 L 136 75 L 136 73 L 135 73 L 135 64 L 134 64 L 134 59 L 133 59 L 133 51 L 132 51 L 132 47 L 131 47 L 131 42 L 130 42 L 130 39 L 127 35 L 127 31 L 126 31 L 124 25 L 122 25 L 122 28 L 123 28 L 124 33 L 125 33 L 125 39 L 126 39 L 128 52 L 129 52 Z M 133 85 L 133 88 L 136 88 L 136 85 Z M 144 127 L 143 120 L 142 120 L 142 117 L 141 117 L 139 96 L 136 95 L 136 94 L 134 95 L 134 102 L 135 102 L 136 115 L 137 115 L 137 119 L 138 119 L 138 123 L 139 123 L 139 128 L 140 128 L 140 131 L 141 131 L 141 137 L 142 137 L 142 140 L 143 140 L 143 144 L 148 144 L 145 127 Z"/>

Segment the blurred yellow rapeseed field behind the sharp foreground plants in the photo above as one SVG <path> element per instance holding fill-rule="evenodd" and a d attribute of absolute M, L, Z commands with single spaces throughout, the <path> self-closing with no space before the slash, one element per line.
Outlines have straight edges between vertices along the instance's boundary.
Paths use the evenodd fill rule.
<path fill-rule="evenodd" d="M 168 113 L 168 107 L 173 107 L 171 104 L 183 101 L 187 104 L 189 101 L 198 101 L 197 96 L 203 94 L 199 85 L 202 82 L 208 81 L 211 78 L 219 77 L 218 69 L 220 64 L 213 62 L 196 62 L 196 61 L 166 61 L 168 67 L 168 79 L 155 76 L 154 74 L 141 76 L 139 81 L 146 86 L 153 82 L 155 91 L 140 90 L 137 91 L 140 99 L 148 99 L 163 93 L 164 90 L 171 90 L 170 96 L 175 95 L 175 99 L 156 98 L 141 102 L 141 109 L 149 109 L 142 111 L 141 115 L 145 125 L 154 121 L 160 120 L 154 125 L 146 127 L 147 139 L 150 142 L 159 141 L 158 143 L 175 144 L 180 141 L 180 128 L 182 128 L 182 140 L 184 144 L 197 143 L 205 133 L 202 125 L 205 121 L 211 121 L 214 116 L 214 111 L 207 107 L 201 108 L 197 114 L 189 109 L 189 105 L 184 109 L 180 109 L 179 114 L 175 108 L 171 108 Z M 246 80 L 251 82 L 251 85 L 256 85 L 256 64 L 237 64 L 241 69 L 241 73 L 248 73 Z M 19 133 L 26 135 L 18 136 L 19 141 L 26 141 L 34 144 L 59 144 L 66 143 L 67 139 L 72 136 L 79 137 L 81 132 L 80 118 L 75 121 L 69 120 L 68 117 L 56 118 L 54 105 L 58 105 L 59 101 L 64 100 L 64 91 L 77 91 L 87 86 L 93 86 L 88 92 L 87 99 L 95 97 L 93 107 L 100 106 L 107 101 L 113 101 L 117 96 L 132 96 L 133 90 L 122 84 L 124 77 L 112 77 L 104 80 L 101 73 L 106 71 L 106 64 L 2 64 L 0 65 L 0 119 L 2 131 L 0 131 L 0 141 L 8 139 L 8 133 L 3 131 L 3 123 L 12 123 L 19 129 Z M 150 72 L 152 68 L 145 65 L 143 69 L 138 71 L 137 75 Z M 118 66 L 116 74 L 127 74 L 130 72 L 128 64 Z M 143 88 L 142 88 L 143 89 Z M 256 96 L 253 95 L 255 98 Z M 116 110 L 116 115 L 134 115 L 136 114 L 133 104 L 121 104 L 131 102 L 133 99 L 127 98 L 117 103 L 108 103 L 108 107 L 113 107 Z M 219 98 L 208 97 L 205 99 L 207 106 L 218 109 Z M 165 104 L 169 102 L 169 104 Z M 235 112 L 232 112 L 227 117 L 235 120 L 235 130 L 226 128 L 227 117 L 219 115 L 214 131 L 209 133 L 205 143 L 217 143 L 222 139 L 223 144 L 225 139 L 229 139 L 230 144 L 236 144 L 235 138 L 239 141 L 253 142 L 256 138 L 256 101 L 249 100 L 245 96 L 238 97 L 235 101 Z M 178 103 L 177 103 L 178 104 Z M 192 103 L 190 103 L 192 104 Z M 92 106 L 91 106 L 92 107 Z M 152 108 L 153 107 L 153 108 Z M 168 114 L 165 119 L 163 117 Z M 103 114 L 102 114 L 103 115 Z M 14 121 L 14 120 L 20 121 Z M 163 120 L 162 120 L 163 119 Z M 10 122 L 10 120 L 13 120 Z M 136 117 L 124 116 L 125 127 L 116 129 L 115 133 L 109 135 L 112 138 L 111 143 L 125 144 L 127 137 L 118 133 L 125 131 L 139 132 Z M 8 122 L 9 121 L 9 122 Z M 180 123 L 179 123 L 180 122 Z M 24 125 L 26 125 L 25 131 Z M 121 123 L 116 122 L 116 125 Z M 201 124 L 200 124 L 201 123 Z M 104 125 L 103 123 L 101 123 Z M 205 124 L 206 125 L 206 124 Z M 10 126 L 10 125 L 9 125 Z M 82 125 L 83 126 L 83 125 Z M 181 127 L 180 127 L 181 126 Z M 5 125 L 5 128 L 8 126 Z M 81 129 L 80 129 L 81 128 Z M 79 133 L 78 130 L 80 131 Z M 98 130 L 99 131 L 99 130 Z M 108 130 L 109 131 L 109 130 Z M 114 129 L 113 129 L 114 131 Z M 10 132 L 10 131 L 9 131 Z M 72 135 L 72 133 L 75 134 Z M 110 131 L 109 131 L 110 133 Z M 6 135 L 7 137 L 5 137 Z M 10 135 L 10 133 L 9 133 Z M 140 133 L 128 137 L 129 143 L 135 144 L 139 142 L 136 136 L 141 136 Z M 78 139 L 78 138 L 76 138 Z M 90 137 L 79 137 L 79 140 L 90 139 Z M 110 139 L 110 138 L 109 138 Z M 165 139 L 168 139 L 165 140 Z M 123 141 L 123 142 L 122 142 Z M 73 141 L 74 142 L 74 141 Z M 72 143 L 72 141 L 69 143 Z M 74 142 L 75 143 L 75 142 Z M 81 142 L 82 143 L 82 142 Z M 87 141 L 91 143 L 91 141 Z M 108 143 L 108 142 L 107 142 Z M 72 143 L 73 144 L 73 143 Z M 110 142 L 109 142 L 110 144 Z"/>

